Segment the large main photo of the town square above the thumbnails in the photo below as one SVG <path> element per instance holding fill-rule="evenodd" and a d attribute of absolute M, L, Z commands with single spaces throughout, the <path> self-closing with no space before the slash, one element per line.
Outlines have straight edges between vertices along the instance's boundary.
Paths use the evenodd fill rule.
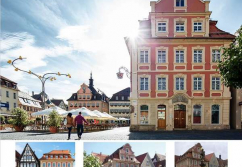
<path fill-rule="evenodd" d="M 241 22 L 221 26 L 212 0 L 96 2 L 100 20 L 31 3 L 46 17 L 29 31 L 3 15 L 2 140 L 242 139 Z"/>

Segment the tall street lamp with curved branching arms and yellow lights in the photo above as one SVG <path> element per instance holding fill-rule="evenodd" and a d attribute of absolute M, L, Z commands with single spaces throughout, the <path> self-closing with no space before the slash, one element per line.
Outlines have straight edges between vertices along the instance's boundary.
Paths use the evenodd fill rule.
<path fill-rule="evenodd" d="M 45 82 L 47 80 L 50 80 L 50 81 L 56 80 L 56 78 L 53 77 L 53 75 L 58 75 L 58 76 L 64 75 L 64 76 L 69 77 L 69 78 L 71 78 L 71 75 L 70 74 L 61 74 L 60 72 L 57 72 L 57 73 L 45 73 L 45 74 L 43 74 L 43 76 L 41 76 L 41 75 L 37 75 L 36 73 L 34 73 L 30 70 L 29 71 L 22 70 L 22 69 L 16 67 L 16 65 L 14 65 L 15 61 L 23 60 L 23 59 L 27 59 L 27 58 L 23 58 L 23 57 L 19 56 L 19 58 L 16 58 L 13 61 L 8 60 L 8 64 L 11 64 L 15 68 L 15 71 L 22 71 L 22 72 L 25 72 L 25 73 L 28 73 L 28 74 L 32 74 L 32 75 L 36 76 L 37 78 L 39 78 L 39 80 L 42 83 L 42 92 L 44 94 L 43 97 L 42 97 L 42 100 L 43 100 L 42 109 L 44 110 L 45 109 Z"/>

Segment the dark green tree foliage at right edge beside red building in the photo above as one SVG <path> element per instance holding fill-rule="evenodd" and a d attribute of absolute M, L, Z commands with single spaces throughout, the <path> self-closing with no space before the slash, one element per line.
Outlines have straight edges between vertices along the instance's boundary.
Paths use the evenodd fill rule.
<path fill-rule="evenodd" d="M 236 38 L 229 48 L 222 48 L 222 60 L 218 70 L 223 84 L 236 89 L 242 88 L 242 26 L 236 32 Z"/>

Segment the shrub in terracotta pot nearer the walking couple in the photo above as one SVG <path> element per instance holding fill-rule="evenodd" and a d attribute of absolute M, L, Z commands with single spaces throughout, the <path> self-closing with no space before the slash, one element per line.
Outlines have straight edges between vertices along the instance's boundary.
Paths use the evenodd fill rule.
<path fill-rule="evenodd" d="M 56 111 L 53 110 L 49 115 L 49 120 L 47 121 L 47 125 L 50 127 L 50 132 L 57 133 L 60 124 L 61 117 Z"/>

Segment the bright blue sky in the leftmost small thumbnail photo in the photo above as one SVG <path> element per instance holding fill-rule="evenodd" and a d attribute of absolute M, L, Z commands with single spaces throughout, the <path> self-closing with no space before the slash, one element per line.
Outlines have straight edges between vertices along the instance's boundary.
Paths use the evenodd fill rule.
<path fill-rule="evenodd" d="M 16 142 L 15 149 L 22 154 L 24 147 L 27 142 Z M 43 154 L 48 153 L 52 150 L 70 150 L 72 157 L 75 152 L 75 143 L 74 142 L 28 142 L 30 147 L 38 158 L 41 158 Z"/>

